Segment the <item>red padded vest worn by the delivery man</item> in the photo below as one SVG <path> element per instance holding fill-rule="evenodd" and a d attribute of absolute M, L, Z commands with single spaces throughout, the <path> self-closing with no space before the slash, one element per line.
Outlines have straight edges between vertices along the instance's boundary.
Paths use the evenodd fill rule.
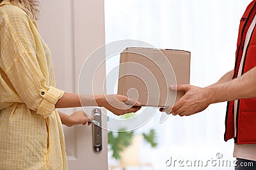
<path fill-rule="evenodd" d="M 236 66 L 234 78 L 237 78 L 241 58 L 243 55 L 244 41 L 252 20 L 256 14 L 256 0 L 246 8 L 239 26 L 236 50 Z M 243 74 L 256 66 L 256 29 L 248 45 L 244 60 Z M 256 144 L 256 98 L 239 100 L 237 112 L 237 144 Z M 234 138 L 234 101 L 227 106 L 225 141 Z"/>

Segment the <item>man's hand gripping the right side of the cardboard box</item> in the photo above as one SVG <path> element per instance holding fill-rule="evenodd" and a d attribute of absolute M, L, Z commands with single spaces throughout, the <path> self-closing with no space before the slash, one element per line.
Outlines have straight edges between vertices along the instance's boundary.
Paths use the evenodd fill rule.
<path fill-rule="evenodd" d="M 190 116 L 205 110 L 211 104 L 211 92 L 207 88 L 177 85 L 177 87 L 171 87 L 171 89 L 185 91 L 186 93 L 174 104 L 173 108 L 164 110 L 168 114 L 172 113 L 173 115 L 180 115 L 180 117 Z"/>

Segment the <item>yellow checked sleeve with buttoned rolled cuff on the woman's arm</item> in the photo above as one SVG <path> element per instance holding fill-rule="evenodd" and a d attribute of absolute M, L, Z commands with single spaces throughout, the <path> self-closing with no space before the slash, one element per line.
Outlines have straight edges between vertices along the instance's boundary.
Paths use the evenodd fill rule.
<path fill-rule="evenodd" d="M 48 71 L 42 71 L 48 70 L 47 60 L 42 51 L 38 52 L 42 50 L 37 49 L 39 34 L 31 24 L 28 15 L 20 9 L 3 14 L 0 67 L 26 106 L 46 118 L 64 92 L 47 86 Z"/>

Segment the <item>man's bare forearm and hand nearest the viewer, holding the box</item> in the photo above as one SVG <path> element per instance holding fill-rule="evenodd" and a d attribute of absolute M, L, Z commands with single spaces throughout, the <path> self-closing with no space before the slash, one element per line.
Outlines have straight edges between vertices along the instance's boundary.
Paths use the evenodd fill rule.
<path fill-rule="evenodd" d="M 223 78 L 223 80 L 227 79 Z M 171 89 L 184 90 L 186 94 L 174 104 L 172 113 L 173 115 L 189 116 L 205 110 L 212 103 L 256 97 L 255 85 L 256 67 L 239 78 L 226 83 L 215 83 L 205 88 L 193 85 L 177 85 Z"/>

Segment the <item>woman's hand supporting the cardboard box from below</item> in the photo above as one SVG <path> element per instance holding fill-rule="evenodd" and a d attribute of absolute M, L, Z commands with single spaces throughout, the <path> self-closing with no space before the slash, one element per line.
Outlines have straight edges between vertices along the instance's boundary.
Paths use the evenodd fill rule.
<path fill-rule="evenodd" d="M 95 99 L 100 107 L 104 107 L 118 116 L 135 113 L 141 108 L 140 102 L 118 94 L 98 95 L 95 96 Z"/>

